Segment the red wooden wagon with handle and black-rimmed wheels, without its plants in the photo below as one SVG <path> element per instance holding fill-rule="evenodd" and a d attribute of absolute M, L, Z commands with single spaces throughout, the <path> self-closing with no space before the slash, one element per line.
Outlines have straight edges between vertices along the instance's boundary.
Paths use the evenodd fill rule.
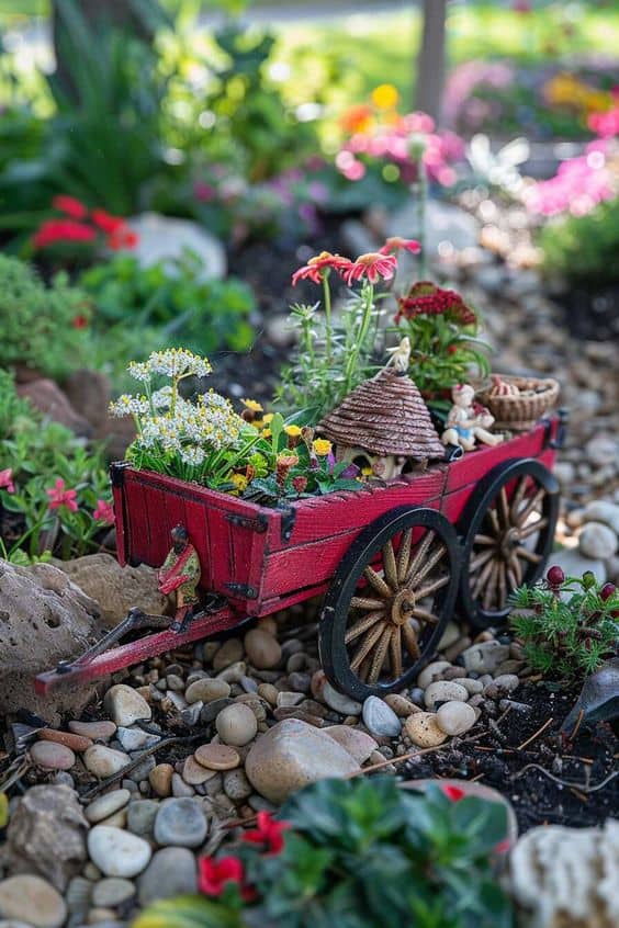
<path fill-rule="evenodd" d="M 319 654 L 356 699 L 407 686 L 458 609 L 499 623 L 508 596 L 541 576 L 559 485 L 561 414 L 495 448 L 358 491 L 267 508 L 159 474 L 112 465 L 121 564 L 159 566 L 179 522 L 216 593 L 187 631 L 87 654 L 36 680 L 38 692 L 112 672 L 247 619 L 325 593 Z"/>

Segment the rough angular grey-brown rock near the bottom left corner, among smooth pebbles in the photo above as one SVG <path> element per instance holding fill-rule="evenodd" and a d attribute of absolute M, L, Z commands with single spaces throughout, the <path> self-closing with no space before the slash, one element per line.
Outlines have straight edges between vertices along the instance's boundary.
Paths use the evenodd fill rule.
<path fill-rule="evenodd" d="M 36 873 L 64 892 L 87 860 L 87 831 L 75 790 L 33 786 L 18 803 L 7 831 L 10 873 Z"/>

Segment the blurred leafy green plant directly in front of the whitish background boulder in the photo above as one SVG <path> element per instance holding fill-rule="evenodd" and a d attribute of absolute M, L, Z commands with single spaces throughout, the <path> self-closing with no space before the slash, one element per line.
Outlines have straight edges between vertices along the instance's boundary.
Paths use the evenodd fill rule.
<path fill-rule="evenodd" d="M 98 328 L 120 322 L 153 327 L 158 347 L 182 340 L 202 353 L 245 351 L 254 341 L 248 322 L 256 305 L 251 290 L 236 278 L 205 280 L 192 253 L 149 268 L 140 268 L 133 256 L 119 254 L 85 271 L 79 285 L 94 304 Z"/>

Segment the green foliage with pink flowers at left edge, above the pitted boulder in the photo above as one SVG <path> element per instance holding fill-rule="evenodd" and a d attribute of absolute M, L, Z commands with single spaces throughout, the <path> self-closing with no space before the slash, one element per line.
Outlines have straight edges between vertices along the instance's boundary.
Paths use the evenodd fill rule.
<path fill-rule="evenodd" d="M 110 500 L 101 450 L 89 450 L 64 426 L 43 420 L 0 371 L 0 556 L 14 563 L 64 559 L 100 548 L 110 523 L 94 518 Z M 56 480 L 76 491 L 77 511 L 49 508 Z"/>

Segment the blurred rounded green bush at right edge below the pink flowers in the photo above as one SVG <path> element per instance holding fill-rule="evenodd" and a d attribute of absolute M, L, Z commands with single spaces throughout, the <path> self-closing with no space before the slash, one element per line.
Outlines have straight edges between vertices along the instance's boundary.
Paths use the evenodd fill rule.
<path fill-rule="evenodd" d="M 543 270 L 587 287 L 619 281 L 619 197 L 586 216 L 565 216 L 540 233 Z"/>

